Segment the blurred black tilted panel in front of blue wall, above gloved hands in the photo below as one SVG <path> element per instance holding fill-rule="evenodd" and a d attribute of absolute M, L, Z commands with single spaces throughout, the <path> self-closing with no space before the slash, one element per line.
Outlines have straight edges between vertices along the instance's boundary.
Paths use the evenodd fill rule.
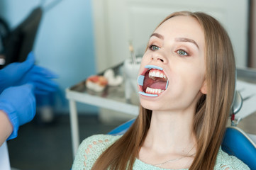
<path fill-rule="evenodd" d="M 42 9 L 35 8 L 21 24 L 11 31 L 4 45 L 4 65 L 26 60 L 28 53 L 33 50 L 35 35 L 42 15 Z"/>

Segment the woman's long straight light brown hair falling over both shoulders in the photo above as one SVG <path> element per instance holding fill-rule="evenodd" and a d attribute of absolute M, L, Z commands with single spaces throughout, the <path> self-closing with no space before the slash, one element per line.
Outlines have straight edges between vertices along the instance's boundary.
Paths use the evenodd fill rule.
<path fill-rule="evenodd" d="M 207 94 L 201 96 L 194 113 L 197 152 L 189 169 L 213 169 L 226 130 L 235 89 L 233 47 L 226 30 L 206 13 L 172 13 L 160 25 L 174 16 L 194 17 L 204 30 Z M 152 111 L 140 106 L 140 113 L 133 125 L 101 154 L 92 169 L 133 169 L 135 158 L 138 157 L 150 127 L 151 115 Z"/>

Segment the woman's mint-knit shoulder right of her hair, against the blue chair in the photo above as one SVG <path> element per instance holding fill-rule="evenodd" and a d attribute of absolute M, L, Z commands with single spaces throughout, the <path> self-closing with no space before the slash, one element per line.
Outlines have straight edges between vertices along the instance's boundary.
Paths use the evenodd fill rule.
<path fill-rule="evenodd" d="M 228 155 L 226 152 L 220 148 L 218 151 L 218 156 L 216 159 L 216 170 L 250 170 L 250 168 L 244 164 L 237 157 Z"/>

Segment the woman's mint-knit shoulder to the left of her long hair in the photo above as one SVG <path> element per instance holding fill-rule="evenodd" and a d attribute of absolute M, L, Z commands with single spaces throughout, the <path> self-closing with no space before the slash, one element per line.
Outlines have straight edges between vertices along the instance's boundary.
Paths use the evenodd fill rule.
<path fill-rule="evenodd" d="M 121 136 L 113 135 L 92 135 L 87 137 L 80 145 L 72 170 L 91 169 L 96 159 Z"/>

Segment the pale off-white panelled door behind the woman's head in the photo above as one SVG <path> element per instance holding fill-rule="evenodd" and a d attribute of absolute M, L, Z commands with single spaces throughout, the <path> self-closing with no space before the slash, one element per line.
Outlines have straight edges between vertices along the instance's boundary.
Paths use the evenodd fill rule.
<path fill-rule="evenodd" d="M 248 0 L 92 2 L 96 32 L 96 64 L 99 71 L 130 57 L 129 40 L 133 41 L 135 52 L 143 54 L 154 28 L 174 11 L 203 11 L 218 19 L 226 28 L 233 43 L 237 66 L 245 67 L 247 64 Z"/>

